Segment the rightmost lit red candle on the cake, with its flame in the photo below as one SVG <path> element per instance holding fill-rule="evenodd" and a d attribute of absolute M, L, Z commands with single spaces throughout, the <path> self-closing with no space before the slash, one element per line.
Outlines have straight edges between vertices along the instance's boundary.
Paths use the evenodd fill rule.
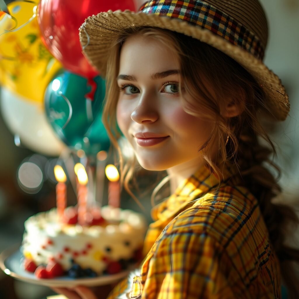
<path fill-rule="evenodd" d="M 108 205 L 114 208 L 119 208 L 120 206 L 120 183 L 119 183 L 119 173 L 117 168 L 109 164 L 105 169 L 106 176 L 109 180 L 108 185 Z"/>

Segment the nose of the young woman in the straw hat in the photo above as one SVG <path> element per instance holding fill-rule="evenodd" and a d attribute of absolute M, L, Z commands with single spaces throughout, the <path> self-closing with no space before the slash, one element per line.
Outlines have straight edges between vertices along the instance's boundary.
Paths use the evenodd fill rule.
<path fill-rule="evenodd" d="M 157 103 L 149 93 L 141 95 L 138 105 L 131 114 L 132 120 L 136 123 L 154 123 L 158 120 Z"/>

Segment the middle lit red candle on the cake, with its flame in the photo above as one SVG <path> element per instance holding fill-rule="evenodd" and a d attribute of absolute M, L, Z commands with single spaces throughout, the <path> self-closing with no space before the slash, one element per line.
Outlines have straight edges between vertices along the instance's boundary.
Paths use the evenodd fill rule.
<path fill-rule="evenodd" d="M 78 163 L 77 163 L 78 164 Z M 76 165 L 77 165 L 76 164 Z M 87 213 L 87 183 L 88 177 L 84 166 L 78 166 L 74 168 L 75 173 L 78 178 L 78 188 L 77 188 L 77 207 L 78 207 L 78 223 L 84 225 L 86 223 L 86 213 Z"/>

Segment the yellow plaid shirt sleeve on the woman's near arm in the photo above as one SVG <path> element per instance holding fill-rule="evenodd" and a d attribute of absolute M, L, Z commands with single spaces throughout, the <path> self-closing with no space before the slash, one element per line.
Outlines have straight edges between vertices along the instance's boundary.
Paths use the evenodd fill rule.
<path fill-rule="evenodd" d="M 236 298 L 232 263 L 217 240 L 192 226 L 172 230 L 149 261 L 141 298 Z"/>

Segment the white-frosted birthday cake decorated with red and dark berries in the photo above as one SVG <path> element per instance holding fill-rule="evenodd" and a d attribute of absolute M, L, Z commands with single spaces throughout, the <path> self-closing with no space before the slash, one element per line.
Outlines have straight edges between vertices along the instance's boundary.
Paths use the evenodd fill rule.
<path fill-rule="evenodd" d="M 77 209 L 63 219 L 57 209 L 25 221 L 21 251 L 26 271 L 38 278 L 95 277 L 116 274 L 141 260 L 147 229 L 144 217 L 132 210 L 93 207 L 86 225 L 77 223 Z"/>

